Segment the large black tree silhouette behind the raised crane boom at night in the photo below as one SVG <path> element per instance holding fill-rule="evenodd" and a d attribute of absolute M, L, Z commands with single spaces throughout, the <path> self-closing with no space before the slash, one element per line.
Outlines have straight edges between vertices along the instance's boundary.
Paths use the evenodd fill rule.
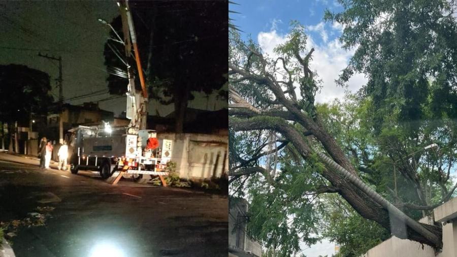
<path fill-rule="evenodd" d="M 149 97 L 174 104 L 175 130 L 180 133 L 192 92 L 209 94 L 227 83 L 228 2 L 147 1 L 130 7 Z M 111 25 L 123 37 L 120 17 Z M 113 32 L 111 37 L 117 38 Z M 108 40 L 104 54 L 110 93 L 122 94 L 128 83 L 120 59 L 125 60 L 124 46 Z M 221 96 L 226 98 L 225 93 Z"/>

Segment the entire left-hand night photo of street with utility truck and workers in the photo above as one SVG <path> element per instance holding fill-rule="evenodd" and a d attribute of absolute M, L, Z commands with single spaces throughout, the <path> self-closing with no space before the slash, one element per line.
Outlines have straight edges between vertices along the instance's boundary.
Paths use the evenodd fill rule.
<path fill-rule="evenodd" d="M 3 1 L 0 24 L 0 257 L 226 256 L 228 2 Z"/>

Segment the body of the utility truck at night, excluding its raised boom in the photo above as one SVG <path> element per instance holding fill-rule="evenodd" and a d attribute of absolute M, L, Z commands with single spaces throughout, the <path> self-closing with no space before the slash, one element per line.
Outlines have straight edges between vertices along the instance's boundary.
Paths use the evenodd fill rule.
<path fill-rule="evenodd" d="M 127 134 L 127 130 L 128 127 L 111 127 L 106 123 L 72 128 L 69 131 L 71 172 L 97 171 L 106 179 L 125 169 L 123 177 L 135 181 L 144 174 L 168 175 L 164 169 L 171 158 L 173 142 L 156 139 L 152 130 L 138 131 L 138 134 Z M 157 145 L 145 151 L 143 146 L 146 148 L 148 141 Z"/>

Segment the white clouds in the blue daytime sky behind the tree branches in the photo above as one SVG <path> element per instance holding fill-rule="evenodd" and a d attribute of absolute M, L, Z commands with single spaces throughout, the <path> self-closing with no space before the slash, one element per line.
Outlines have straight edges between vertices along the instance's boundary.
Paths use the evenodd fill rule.
<path fill-rule="evenodd" d="M 313 31 L 325 31 L 324 24 L 318 23 L 313 26 L 306 26 L 307 29 Z M 332 24 L 334 30 L 342 27 L 338 24 Z M 322 36 L 322 35 L 321 35 Z M 263 51 L 269 56 L 274 57 L 273 49 L 276 45 L 285 42 L 287 35 L 280 35 L 276 30 L 269 32 L 260 32 L 257 35 L 257 42 Z M 308 36 L 307 51 L 314 47 L 310 68 L 315 70 L 322 80 L 322 89 L 316 94 L 316 102 L 332 102 L 335 98 L 343 99 L 345 88 L 335 84 L 341 71 L 346 68 L 353 51 L 346 51 L 342 48 L 338 39 L 317 44 L 312 36 Z M 363 74 L 355 74 L 348 81 L 348 90 L 355 92 L 367 82 Z M 297 93 L 297 95 L 300 95 Z"/>

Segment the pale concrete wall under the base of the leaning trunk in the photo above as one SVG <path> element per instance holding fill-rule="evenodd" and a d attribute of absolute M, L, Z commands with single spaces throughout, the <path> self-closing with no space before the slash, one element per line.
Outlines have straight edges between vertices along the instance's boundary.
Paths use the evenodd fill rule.
<path fill-rule="evenodd" d="M 457 198 L 453 198 L 434 210 L 436 222 L 444 222 L 443 249 L 440 252 L 428 245 L 418 242 L 391 237 L 368 250 L 363 257 L 457 257 Z M 432 223 L 423 218 L 422 223 Z"/>

